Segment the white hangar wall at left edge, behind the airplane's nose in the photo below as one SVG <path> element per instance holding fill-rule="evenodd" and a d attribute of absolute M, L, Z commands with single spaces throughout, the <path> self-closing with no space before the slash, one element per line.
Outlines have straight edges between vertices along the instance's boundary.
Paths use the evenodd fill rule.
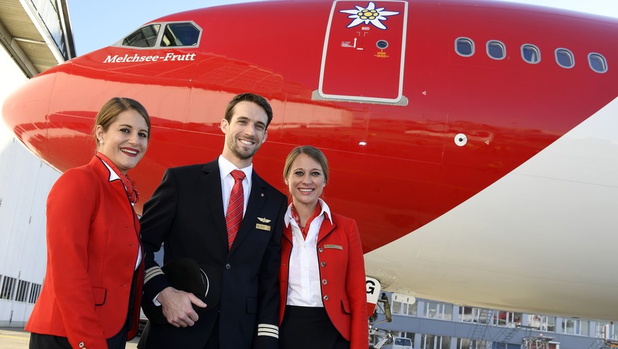
<path fill-rule="evenodd" d="M 27 81 L 0 48 L 0 105 Z M 45 277 L 45 200 L 58 171 L 30 153 L 0 122 L 0 327 L 23 327 Z"/>

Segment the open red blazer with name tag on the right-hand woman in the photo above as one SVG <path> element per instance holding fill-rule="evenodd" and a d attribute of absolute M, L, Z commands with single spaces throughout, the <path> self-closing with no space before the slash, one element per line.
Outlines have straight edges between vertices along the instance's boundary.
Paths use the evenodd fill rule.
<path fill-rule="evenodd" d="M 350 349 L 367 349 L 367 285 L 360 233 L 354 219 L 339 214 L 332 214 L 332 219 L 333 224 L 324 219 L 318 234 L 322 302 L 337 331 L 350 341 Z M 281 253 L 279 324 L 287 302 L 287 278 L 292 253 L 291 224 L 283 229 Z"/>

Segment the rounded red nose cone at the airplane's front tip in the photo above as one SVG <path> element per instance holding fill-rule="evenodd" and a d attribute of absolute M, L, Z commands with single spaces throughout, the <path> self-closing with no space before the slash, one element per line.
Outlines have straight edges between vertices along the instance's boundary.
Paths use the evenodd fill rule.
<path fill-rule="evenodd" d="M 2 105 L 2 118 L 8 129 L 25 147 L 42 159 L 47 151 L 47 116 L 55 74 L 42 74 L 13 91 Z"/>

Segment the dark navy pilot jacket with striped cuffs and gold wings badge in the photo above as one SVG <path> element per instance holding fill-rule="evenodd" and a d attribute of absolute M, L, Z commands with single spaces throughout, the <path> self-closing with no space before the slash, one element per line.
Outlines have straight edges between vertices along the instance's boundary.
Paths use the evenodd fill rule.
<path fill-rule="evenodd" d="M 221 300 L 216 309 L 199 311 L 193 326 L 151 323 L 145 349 L 204 348 L 217 315 L 220 348 L 277 348 L 277 273 L 287 198 L 255 171 L 251 183 L 240 230 L 228 250 L 217 159 L 166 170 L 141 219 L 147 270 L 142 302 L 152 302 L 169 285 L 154 261 L 161 243 L 164 263 L 193 258 L 218 270 Z"/>

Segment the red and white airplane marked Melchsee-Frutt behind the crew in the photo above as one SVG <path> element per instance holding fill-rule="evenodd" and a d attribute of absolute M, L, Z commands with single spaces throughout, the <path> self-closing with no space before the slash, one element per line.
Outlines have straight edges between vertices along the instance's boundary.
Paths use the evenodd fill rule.
<path fill-rule="evenodd" d="M 275 118 L 256 171 L 285 193 L 300 144 L 356 219 L 383 291 L 618 320 L 618 21 L 481 0 L 261 1 L 164 16 L 6 99 L 17 139 L 58 171 L 93 155 L 93 118 L 127 96 L 152 118 L 130 175 L 222 147 L 236 93 Z"/>

